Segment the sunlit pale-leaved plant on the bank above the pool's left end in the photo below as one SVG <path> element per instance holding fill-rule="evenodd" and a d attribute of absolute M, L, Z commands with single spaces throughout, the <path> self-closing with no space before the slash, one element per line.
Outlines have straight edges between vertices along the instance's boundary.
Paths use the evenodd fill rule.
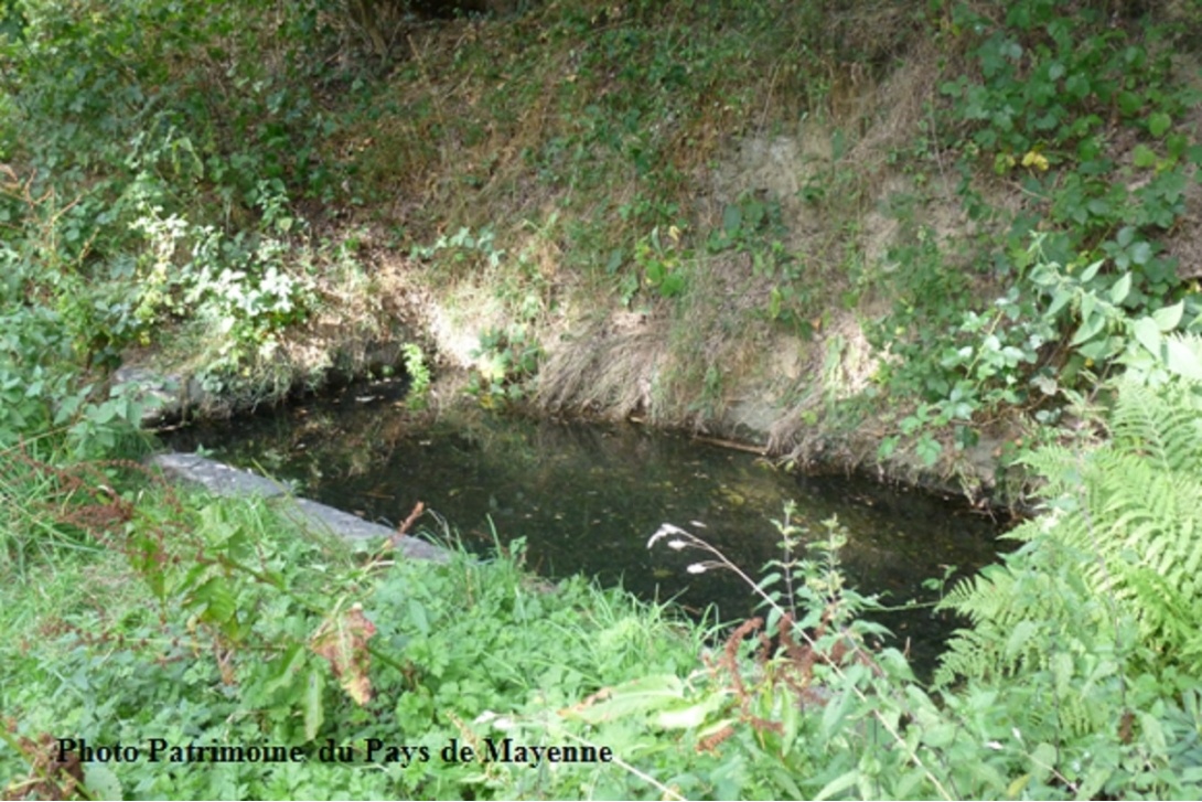
<path fill-rule="evenodd" d="M 204 321 L 221 340 L 220 361 L 237 366 L 254 354 L 269 355 L 275 333 L 309 315 L 316 302 L 313 283 L 290 265 L 298 257 L 303 262 L 307 253 L 286 239 L 297 220 L 286 213 L 278 183 L 261 183 L 258 195 L 260 230 L 232 236 L 143 206 L 131 227 L 149 245 L 135 313 L 147 328 L 189 316 Z"/>

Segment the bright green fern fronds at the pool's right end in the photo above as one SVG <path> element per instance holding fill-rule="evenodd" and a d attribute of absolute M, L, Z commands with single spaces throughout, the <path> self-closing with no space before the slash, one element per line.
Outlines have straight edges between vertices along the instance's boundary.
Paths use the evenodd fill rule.
<path fill-rule="evenodd" d="M 1111 429 L 1087 453 L 1052 446 L 1027 459 L 1047 480 L 1048 511 L 1011 533 L 1025 545 L 1004 566 L 948 594 L 974 630 L 950 644 L 941 682 L 1048 670 L 1049 654 L 1091 637 L 1196 670 L 1202 382 L 1120 382 Z M 1136 628 L 1125 643 L 1113 642 L 1120 622 Z"/>

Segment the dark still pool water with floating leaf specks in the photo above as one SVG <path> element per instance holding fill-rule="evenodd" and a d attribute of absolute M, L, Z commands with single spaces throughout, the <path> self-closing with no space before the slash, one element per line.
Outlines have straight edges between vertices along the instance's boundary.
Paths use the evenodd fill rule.
<path fill-rule="evenodd" d="M 785 501 L 815 536 L 838 516 L 849 530 L 841 557 L 850 582 L 887 605 L 929 601 L 923 580 L 945 566 L 963 576 L 994 562 L 1000 527 L 922 493 L 863 477 L 797 477 L 754 455 L 635 426 L 482 417 L 416 423 L 388 387 L 356 387 L 327 399 L 174 433 L 171 445 L 203 445 L 216 458 L 260 468 L 297 492 L 370 521 L 397 524 L 417 501 L 487 553 L 525 537 L 528 563 L 563 577 L 584 572 L 643 599 L 673 598 L 694 612 L 715 604 L 722 620 L 743 618 L 755 599 L 730 571 L 691 575 L 698 552 L 648 551 L 667 522 L 703 536 L 758 578 L 779 557 Z M 698 527 L 695 522 L 704 524 Z M 956 622 L 928 608 L 886 613 L 881 623 L 910 641 L 916 667 L 930 670 Z"/>

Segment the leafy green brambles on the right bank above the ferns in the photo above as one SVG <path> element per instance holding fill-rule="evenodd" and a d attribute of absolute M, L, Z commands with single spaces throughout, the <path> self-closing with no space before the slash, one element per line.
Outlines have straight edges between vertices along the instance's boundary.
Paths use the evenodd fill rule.
<path fill-rule="evenodd" d="M 880 382 L 920 399 L 903 434 L 922 433 L 928 464 L 941 451 L 933 429 L 954 426 L 963 447 L 1006 408 L 1052 422 L 1051 397 L 1132 356 L 1135 321 L 1150 340 L 1149 321 L 1164 334 L 1197 315 L 1164 244 L 1202 164 L 1185 121 L 1196 93 L 1176 76 L 1171 26 L 1112 24 L 1100 4 L 951 11 L 945 34 L 970 69 L 941 85 L 947 103 L 932 119 L 974 227 L 941 240 L 915 230 L 914 204 L 899 198 L 894 213 L 909 225 L 887 255 L 895 268 L 882 272 L 895 301 L 868 328 L 895 357 Z M 990 172 L 1022 189 L 1020 209 L 986 200 Z M 996 298 L 989 308 L 974 297 L 982 289 Z"/>

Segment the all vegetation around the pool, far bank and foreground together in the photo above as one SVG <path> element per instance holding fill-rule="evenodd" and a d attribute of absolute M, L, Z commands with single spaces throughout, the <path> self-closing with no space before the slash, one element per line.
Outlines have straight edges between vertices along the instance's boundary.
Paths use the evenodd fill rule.
<path fill-rule="evenodd" d="M 0 12 L 7 795 L 1202 792 L 1200 308 L 1174 256 L 1202 164 L 1180 58 L 1196 12 L 582 0 L 427 25 L 379 7 Z M 944 53 L 921 129 L 869 159 L 870 114 L 849 108 L 918 38 Z M 798 198 L 704 201 L 733 139 L 787 138 L 803 118 L 833 132 Z M 865 220 L 889 162 L 909 183 L 886 198 L 897 226 L 874 261 Z M 966 218 L 953 231 L 926 214 L 946 197 Z M 832 224 L 814 253 L 793 239 L 793 202 Z M 911 447 L 926 464 L 1029 415 L 1047 510 L 951 592 L 971 625 L 928 687 L 869 648 L 875 601 L 841 578 L 835 523 L 810 558 L 813 533 L 776 523 L 781 559 L 744 570 L 762 620 L 715 647 L 668 608 L 581 580 L 540 587 L 518 554 L 352 552 L 268 503 L 173 491 L 114 459 L 141 447 L 143 400 L 109 380 L 131 347 L 171 339 L 210 387 L 255 398 L 293 382 L 274 357 L 331 305 L 371 328 L 381 285 L 347 216 L 432 284 L 488 283 L 508 316 L 478 332 L 490 404 L 537 393 L 548 366 L 606 363 L 603 385 L 560 378 L 547 396 L 703 422 L 752 358 L 732 340 L 819 337 L 837 307 L 883 302 L 861 321 L 883 355 L 871 386 L 815 396 L 843 415 L 885 399 L 877 456 Z M 596 352 L 545 361 L 541 335 L 579 298 L 602 319 Z M 609 364 L 636 343 L 642 363 Z M 422 384 L 427 355 L 404 354 Z M 694 565 L 731 568 L 712 551 Z M 438 759 L 452 739 L 487 754 L 507 737 L 615 759 Z M 58 738 L 307 759 L 82 762 Z"/>

